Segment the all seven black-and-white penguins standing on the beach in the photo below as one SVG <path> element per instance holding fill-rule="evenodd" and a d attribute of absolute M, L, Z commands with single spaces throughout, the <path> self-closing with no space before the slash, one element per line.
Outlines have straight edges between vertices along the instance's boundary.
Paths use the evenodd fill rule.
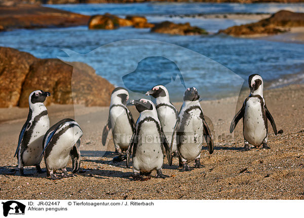
<path fill-rule="evenodd" d="M 250 150 L 249 144 L 270 149 L 267 145 L 267 119 L 276 135 L 277 129 L 263 98 L 263 80 L 259 75 L 253 74 L 249 76 L 248 83 L 250 95 L 233 118 L 230 132 L 243 119 L 244 150 Z M 181 171 L 191 170 L 188 163 L 192 161 L 195 161 L 195 168 L 200 168 L 204 140 L 210 154 L 213 153 L 214 142 L 204 118 L 197 89 L 192 87 L 185 90 L 179 113 L 170 102 L 165 86 L 155 86 L 146 95 L 153 96 L 156 104 L 145 98 L 130 100 L 140 114 L 134 123 L 127 107 L 128 90 L 118 87 L 112 91 L 109 116 L 102 132 L 103 146 L 111 129 L 115 150 L 120 157 L 126 157 L 127 167 L 130 166 L 132 155 L 134 180 L 150 179 L 154 170 L 157 178 L 168 177 L 162 173 L 165 156 L 170 166 L 172 158 L 177 156 Z M 42 90 L 36 90 L 29 95 L 29 114 L 20 132 L 15 153 L 18 168 L 21 175 L 24 175 L 24 166 L 35 166 L 37 172 L 42 173 L 40 162 L 44 156 L 47 174 L 52 179 L 60 178 L 55 175 L 58 169 L 62 170 L 62 177 L 72 176 L 73 174 L 67 173 L 66 166 L 71 157 L 72 172 L 79 170 L 79 147 L 83 132 L 72 119 L 61 120 L 49 128 L 47 108 L 43 103 L 47 96 L 50 93 Z"/>

